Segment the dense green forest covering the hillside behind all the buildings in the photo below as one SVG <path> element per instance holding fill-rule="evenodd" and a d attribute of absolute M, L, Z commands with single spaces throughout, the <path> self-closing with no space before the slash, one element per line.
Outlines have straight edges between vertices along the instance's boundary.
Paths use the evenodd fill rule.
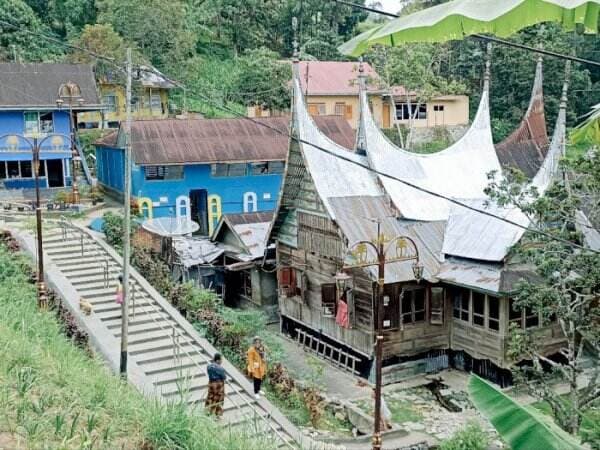
<path fill-rule="evenodd" d="M 360 1 L 357 0 L 357 3 Z M 362 0 L 362 3 L 372 4 Z M 402 13 L 431 0 L 405 0 Z M 400 6 L 399 6 L 400 7 Z M 76 51 L 85 48 L 123 61 L 151 64 L 187 87 L 188 108 L 207 117 L 231 115 L 244 106 L 282 107 L 289 102 L 292 17 L 304 59 L 346 59 L 345 40 L 386 20 L 332 0 L 0 0 L 0 60 L 91 62 L 101 73 L 114 65 Z M 528 45 L 598 59 L 596 36 L 579 36 L 546 24 L 512 37 Z M 384 81 L 428 97 L 465 93 L 472 105 L 482 83 L 484 43 L 374 48 L 367 55 Z M 492 114 L 496 139 L 506 135 L 526 108 L 536 56 L 496 45 L 492 67 Z M 563 81 L 564 61 L 547 58 L 545 89 L 552 123 Z M 600 100 L 600 71 L 575 65 L 571 75 L 570 124 Z M 182 93 L 173 107 L 182 106 Z M 225 105 L 229 112 L 221 108 Z M 471 108 L 474 111 L 474 108 Z"/>

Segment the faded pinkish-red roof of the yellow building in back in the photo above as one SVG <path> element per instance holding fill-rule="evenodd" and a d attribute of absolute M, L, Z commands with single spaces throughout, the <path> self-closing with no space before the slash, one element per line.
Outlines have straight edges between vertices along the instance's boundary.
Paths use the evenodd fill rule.
<path fill-rule="evenodd" d="M 379 75 L 363 63 L 368 90 L 379 91 Z M 308 76 L 308 89 L 307 89 Z M 308 95 L 358 95 L 358 63 L 347 61 L 300 61 L 300 83 Z"/>

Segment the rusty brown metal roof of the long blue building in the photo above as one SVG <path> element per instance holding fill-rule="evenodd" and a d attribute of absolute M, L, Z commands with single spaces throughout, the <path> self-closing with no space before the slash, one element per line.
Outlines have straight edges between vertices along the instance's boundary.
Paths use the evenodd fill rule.
<path fill-rule="evenodd" d="M 131 127 L 133 159 L 139 165 L 213 162 L 283 161 L 289 144 L 290 118 L 136 120 Z M 354 130 L 342 116 L 315 118 L 319 129 L 334 142 L 352 148 Z M 96 141 L 115 147 L 118 134 Z"/>

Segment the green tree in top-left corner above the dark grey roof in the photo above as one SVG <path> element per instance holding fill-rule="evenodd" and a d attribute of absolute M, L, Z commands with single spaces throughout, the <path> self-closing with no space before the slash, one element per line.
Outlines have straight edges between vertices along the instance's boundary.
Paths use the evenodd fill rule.
<path fill-rule="evenodd" d="M 24 1 L 0 0 L 0 20 L 0 59 L 16 55 L 22 61 L 53 61 L 60 56 L 57 44 L 30 34 L 50 35 L 50 30 Z"/>

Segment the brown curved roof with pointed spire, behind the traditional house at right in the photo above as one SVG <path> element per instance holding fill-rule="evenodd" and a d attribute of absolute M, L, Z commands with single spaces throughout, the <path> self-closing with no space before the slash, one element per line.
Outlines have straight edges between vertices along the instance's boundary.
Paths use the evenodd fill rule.
<path fill-rule="evenodd" d="M 519 127 L 502 142 L 496 144 L 496 152 L 503 167 L 519 169 L 528 178 L 533 178 L 544 161 L 549 144 L 540 58 L 527 112 Z"/>

